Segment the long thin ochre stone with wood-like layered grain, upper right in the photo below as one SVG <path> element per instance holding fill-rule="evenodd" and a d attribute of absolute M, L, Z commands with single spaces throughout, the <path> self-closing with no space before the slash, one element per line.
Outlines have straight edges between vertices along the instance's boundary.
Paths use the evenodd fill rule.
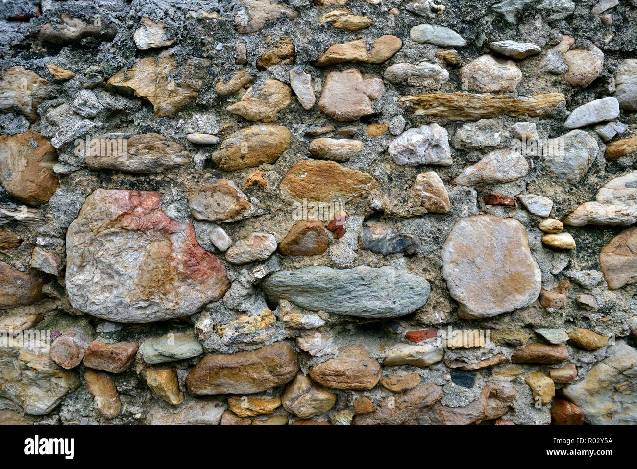
<path fill-rule="evenodd" d="M 561 103 L 566 102 L 561 93 L 538 93 L 529 96 L 474 93 L 433 93 L 403 96 L 400 103 L 414 108 L 414 115 L 429 115 L 448 120 L 489 119 L 500 115 L 516 117 L 546 117 Z"/>

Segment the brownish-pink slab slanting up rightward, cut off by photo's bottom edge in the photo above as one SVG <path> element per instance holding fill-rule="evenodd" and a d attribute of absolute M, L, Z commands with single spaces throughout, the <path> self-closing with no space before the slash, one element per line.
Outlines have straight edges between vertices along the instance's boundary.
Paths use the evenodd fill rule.
<path fill-rule="evenodd" d="M 444 396 L 436 384 L 420 384 L 397 396 L 390 396 L 376 405 L 371 414 L 356 415 L 354 425 L 400 425 L 422 414 Z"/>

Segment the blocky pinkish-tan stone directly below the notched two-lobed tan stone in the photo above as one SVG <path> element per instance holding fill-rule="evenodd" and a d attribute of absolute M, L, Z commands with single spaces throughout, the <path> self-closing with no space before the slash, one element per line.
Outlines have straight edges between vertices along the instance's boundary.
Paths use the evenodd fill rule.
<path fill-rule="evenodd" d="M 361 119 L 374 113 L 371 99 L 385 92 L 380 78 L 364 80 L 357 69 L 331 71 L 327 74 L 318 107 L 340 122 Z"/>

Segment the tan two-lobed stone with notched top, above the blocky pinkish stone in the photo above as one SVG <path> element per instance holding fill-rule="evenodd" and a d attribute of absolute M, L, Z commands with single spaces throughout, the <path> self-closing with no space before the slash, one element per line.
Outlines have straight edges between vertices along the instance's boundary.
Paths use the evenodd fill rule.
<path fill-rule="evenodd" d="M 343 62 L 364 62 L 380 64 L 403 47 L 403 41 L 396 36 L 380 36 L 374 40 L 374 46 L 367 50 L 364 39 L 331 45 L 326 52 L 313 63 L 315 67 L 342 64 Z"/>

